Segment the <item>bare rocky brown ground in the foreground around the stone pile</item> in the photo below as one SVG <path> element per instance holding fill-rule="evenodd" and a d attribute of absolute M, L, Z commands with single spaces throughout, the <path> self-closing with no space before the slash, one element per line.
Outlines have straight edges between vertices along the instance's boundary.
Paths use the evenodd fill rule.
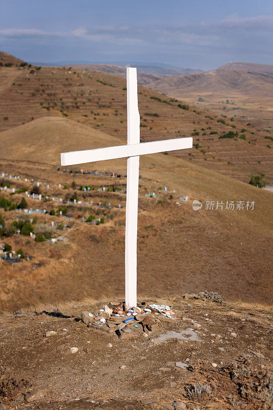
<path fill-rule="evenodd" d="M 176 319 L 123 339 L 80 319 L 106 302 L 1 314 L 0 409 L 273 408 L 269 308 L 212 293 L 146 300 Z"/>

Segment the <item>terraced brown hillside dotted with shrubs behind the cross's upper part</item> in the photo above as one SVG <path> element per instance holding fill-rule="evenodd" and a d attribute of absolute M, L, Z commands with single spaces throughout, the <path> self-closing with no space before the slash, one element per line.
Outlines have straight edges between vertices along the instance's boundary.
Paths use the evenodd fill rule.
<path fill-rule="evenodd" d="M 0 77 L 0 130 L 11 130 L 33 119 L 53 115 L 79 121 L 125 140 L 123 78 L 49 67 L 2 67 Z M 138 94 L 142 141 L 192 135 L 196 149 L 192 153 L 174 155 L 245 182 L 251 174 L 263 173 L 267 183 L 272 183 L 270 144 L 273 136 L 256 121 L 246 122 L 246 118 L 244 122 L 237 121 L 237 112 L 220 115 L 187 106 L 144 87 L 139 87 Z M 234 132 L 231 134 L 234 138 L 219 138 L 230 131 Z M 11 134 L 8 135 L 11 137 Z"/>

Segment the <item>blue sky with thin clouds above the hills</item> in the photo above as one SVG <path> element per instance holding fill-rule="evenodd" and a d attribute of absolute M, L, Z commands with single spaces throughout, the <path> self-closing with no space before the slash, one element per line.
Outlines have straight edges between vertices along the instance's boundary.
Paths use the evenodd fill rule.
<path fill-rule="evenodd" d="M 0 50 L 26 61 L 273 64 L 272 0 L 0 0 Z"/>

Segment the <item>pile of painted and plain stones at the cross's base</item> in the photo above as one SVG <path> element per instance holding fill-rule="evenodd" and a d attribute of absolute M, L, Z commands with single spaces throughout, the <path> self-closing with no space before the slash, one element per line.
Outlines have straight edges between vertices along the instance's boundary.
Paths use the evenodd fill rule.
<path fill-rule="evenodd" d="M 88 327 L 100 327 L 109 333 L 116 333 L 121 339 L 148 333 L 156 329 L 160 320 L 173 321 L 176 314 L 169 305 L 146 304 L 126 309 L 125 302 L 109 303 L 102 309 L 82 312 L 81 320 Z"/>

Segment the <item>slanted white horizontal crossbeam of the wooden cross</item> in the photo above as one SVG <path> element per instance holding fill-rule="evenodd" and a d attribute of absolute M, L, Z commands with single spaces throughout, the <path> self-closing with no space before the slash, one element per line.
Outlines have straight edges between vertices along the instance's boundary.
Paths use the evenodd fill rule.
<path fill-rule="evenodd" d="M 117 147 L 97 148 L 94 150 L 71 151 L 60 154 L 61 165 L 104 161 L 137 155 L 155 154 L 157 152 L 183 150 L 193 147 L 193 138 L 164 139 L 162 141 L 141 142 L 140 144 L 119 145 Z"/>

